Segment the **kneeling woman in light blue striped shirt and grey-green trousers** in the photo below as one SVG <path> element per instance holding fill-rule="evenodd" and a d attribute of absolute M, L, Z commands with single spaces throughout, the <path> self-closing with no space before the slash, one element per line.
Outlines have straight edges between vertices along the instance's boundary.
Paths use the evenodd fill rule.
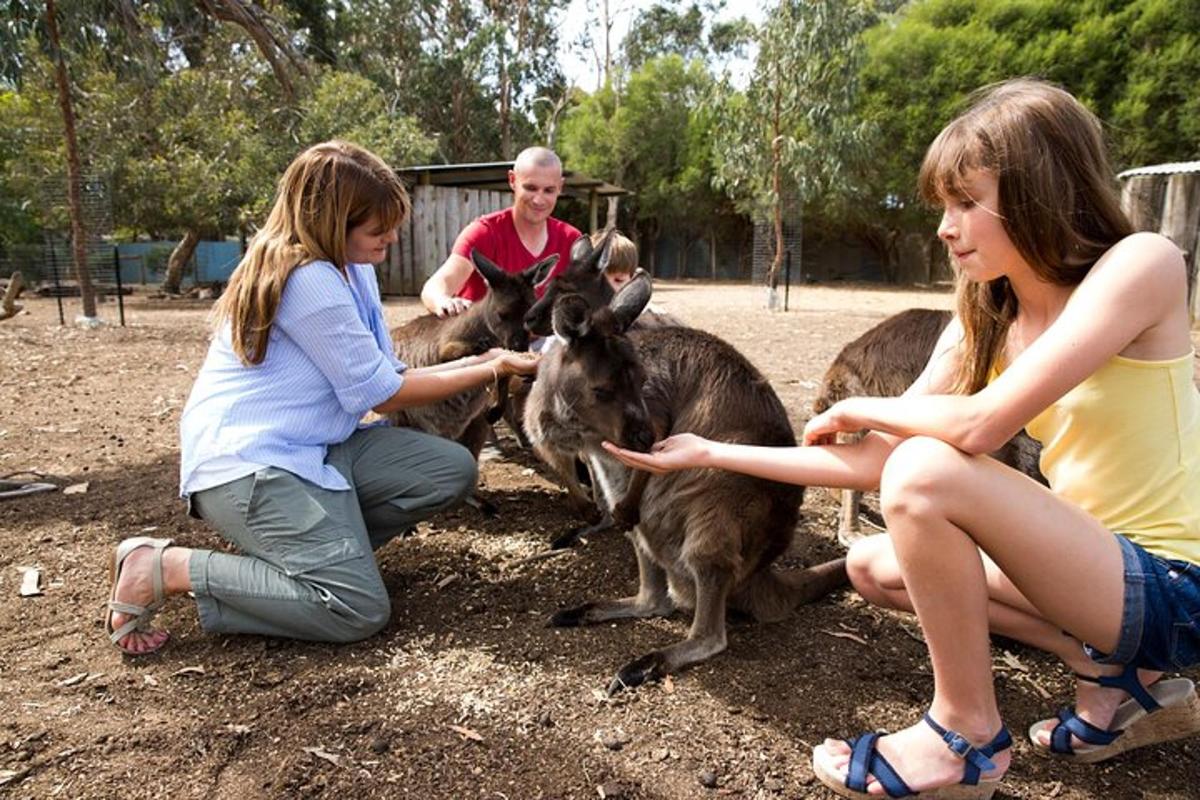
<path fill-rule="evenodd" d="M 458 444 L 364 415 L 536 368 L 503 350 L 420 369 L 396 359 L 372 264 L 407 213 L 395 173 L 356 145 L 288 167 L 180 422 L 181 494 L 242 554 L 121 542 L 106 627 L 122 651 L 161 648 L 150 616 L 185 591 L 212 632 L 353 642 L 386 624 L 372 551 L 462 500 L 476 473 Z"/>

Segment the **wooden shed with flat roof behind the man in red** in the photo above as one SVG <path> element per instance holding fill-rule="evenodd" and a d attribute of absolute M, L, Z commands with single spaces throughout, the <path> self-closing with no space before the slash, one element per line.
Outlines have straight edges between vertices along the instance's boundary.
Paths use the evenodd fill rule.
<path fill-rule="evenodd" d="M 409 187 L 413 212 L 401 225 L 400 241 L 379 265 L 383 294 L 420 294 L 434 270 L 442 266 L 458 231 L 476 217 L 512 203 L 509 190 L 511 161 L 472 164 L 406 167 L 396 173 Z M 600 201 L 628 194 L 612 184 L 563 170 L 563 194 L 587 204 L 590 229 L 600 224 Z"/>

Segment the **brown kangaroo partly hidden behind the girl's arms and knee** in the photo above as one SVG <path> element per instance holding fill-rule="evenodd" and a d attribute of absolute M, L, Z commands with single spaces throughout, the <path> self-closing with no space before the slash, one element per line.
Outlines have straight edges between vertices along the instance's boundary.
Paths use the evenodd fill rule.
<path fill-rule="evenodd" d="M 847 397 L 895 397 L 920 375 L 937 338 L 950 321 L 950 312 L 910 308 L 888 317 L 841 349 L 826 371 L 814 414 Z M 1045 483 L 1038 469 L 1042 445 L 1024 431 L 991 456 L 1013 469 Z M 863 537 L 859 524 L 862 492 L 841 489 L 838 541 L 847 547 Z"/>

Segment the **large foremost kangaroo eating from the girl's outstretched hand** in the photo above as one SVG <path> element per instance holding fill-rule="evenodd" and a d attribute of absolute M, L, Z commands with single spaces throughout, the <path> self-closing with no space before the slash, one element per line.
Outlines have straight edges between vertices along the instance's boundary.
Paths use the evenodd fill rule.
<path fill-rule="evenodd" d="M 559 295 L 553 327 L 565 344 L 544 356 L 527 419 L 533 411 L 552 423 L 553 435 L 574 437 L 592 451 L 604 440 L 646 451 L 684 431 L 794 446 L 775 392 L 731 345 L 686 327 L 631 329 L 649 295 L 644 275 L 599 309 L 578 295 Z M 601 481 L 613 510 L 630 482 L 628 470 L 617 467 Z M 779 620 L 846 582 L 844 560 L 790 573 L 772 567 L 791 545 L 803 487 L 709 469 L 637 475 L 642 489 L 634 495 L 636 527 L 629 534 L 637 594 L 562 610 L 551 621 L 574 626 L 692 608 L 692 622 L 686 639 L 622 667 L 610 692 L 724 650 L 727 607 Z"/>

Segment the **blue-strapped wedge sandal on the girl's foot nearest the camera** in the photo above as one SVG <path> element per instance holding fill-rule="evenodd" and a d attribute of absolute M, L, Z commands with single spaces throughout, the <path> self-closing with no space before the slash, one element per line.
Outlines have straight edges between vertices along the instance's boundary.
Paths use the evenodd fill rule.
<path fill-rule="evenodd" d="M 821 778 L 821 782 L 844 798 L 872 798 L 868 794 L 866 784 L 874 775 L 883 787 L 888 798 L 928 798 L 929 800 L 989 800 L 1000 786 L 1000 778 L 984 778 L 984 772 L 996 769 L 991 757 L 1013 746 L 1013 738 L 1008 734 L 1008 728 L 1001 727 L 1000 733 L 986 745 L 974 746 L 965 736 L 947 730 L 940 726 L 934 717 L 925 714 L 925 724 L 942 738 L 950 752 L 962 759 L 962 780 L 959 783 L 941 786 L 924 792 L 913 792 L 905 783 L 904 778 L 895 771 L 878 750 L 876 750 L 880 733 L 864 733 L 854 739 L 846 740 L 850 745 L 850 765 L 842 775 L 833 768 L 826 759 L 822 747 L 812 750 L 812 771 Z"/>

